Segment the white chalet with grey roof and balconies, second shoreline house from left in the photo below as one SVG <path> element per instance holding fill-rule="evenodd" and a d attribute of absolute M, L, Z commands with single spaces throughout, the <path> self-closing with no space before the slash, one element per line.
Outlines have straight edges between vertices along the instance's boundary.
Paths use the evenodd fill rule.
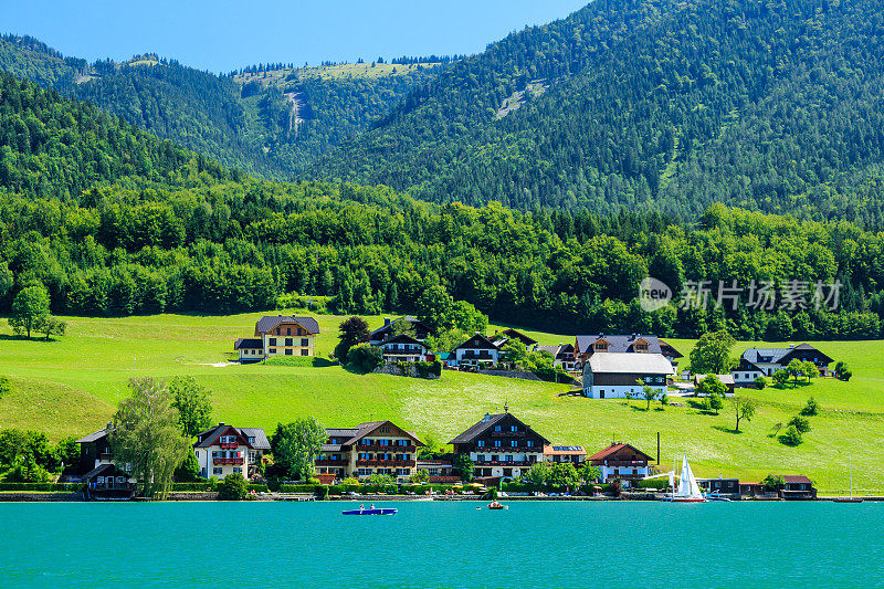
<path fill-rule="evenodd" d="M 200 476 L 224 478 L 239 473 L 251 478 L 261 459 L 270 452 L 270 441 L 260 428 L 234 428 L 219 423 L 197 435 L 193 452 L 200 465 Z"/>

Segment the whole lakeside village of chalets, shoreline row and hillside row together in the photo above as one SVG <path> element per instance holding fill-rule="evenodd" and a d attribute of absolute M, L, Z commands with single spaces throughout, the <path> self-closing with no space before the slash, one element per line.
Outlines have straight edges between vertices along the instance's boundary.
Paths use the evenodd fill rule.
<path fill-rule="evenodd" d="M 358 317 L 348 320 L 352 319 L 361 320 Z M 313 317 L 264 316 L 255 325 L 254 337 L 238 339 L 234 348 L 241 362 L 277 356 L 313 356 L 318 333 L 318 323 Z M 423 364 L 439 367 L 423 371 L 425 377 L 433 378 L 443 369 L 497 374 L 496 369 L 511 367 L 506 356 L 512 350 L 540 351 L 552 360 L 557 370 L 580 382 L 586 397 L 640 398 L 649 403 L 652 398 L 664 398 L 667 391 L 676 397 L 693 396 L 696 389 L 704 388 L 708 388 L 709 398 L 718 393 L 722 398 L 733 398 L 737 388 L 760 387 L 768 377 L 807 370 L 807 366 L 812 366 L 819 375 L 830 376 L 829 365 L 833 361 L 808 344 L 751 348 L 743 353 L 739 364 L 727 374 L 693 378 L 682 374 L 676 381 L 682 355 L 651 335 L 580 335 L 573 344 L 540 346 L 525 334 L 507 329 L 493 337 L 476 333 L 443 354 L 428 347 L 431 329 L 414 317 L 385 319 L 382 326 L 362 338 L 367 339 L 361 345 L 362 354 L 369 350 L 377 357 L 378 366 L 369 367 L 372 371 L 383 371 L 393 365 Z M 499 374 L 519 377 L 513 370 Z M 655 456 L 654 449 L 640 449 L 629 441 L 588 451 L 567 441 L 550 440 L 508 407 L 503 409 L 501 413 L 477 416 L 475 423 L 449 442 L 451 452 L 433 452 L 414 432 L 389 420 L 340 423 L 328 429 L 315 420 L 298 420 L 305 429 L 286 435 L 281 425 L 272 438 L 248 424 L 219 423 L 194 431 L 196 442 L 187 450 L 186 462 L 190 464 L 192 478 L 204 482 L 175 483 L 164 488 L 160 496 L 167 498 L 166 492 L 170 492 L 168 498 L 173 499 L 214 496 L 211 493 L 220 498 L 254 499 L 359 499 L 376 494 L 378 498 L 433 499 L 490 495 L 495 499 L 665 499 L 676 494 L 694 497 L 685 501 L 817 498 L 817 490 L 807 476 L 775 473 L 762 481 L 726 476 L 695 480 L 686 456 L 677 476 L 675 466 L 671 471 L 661 466 L 659 437 Z M 311 431 L 311 423 L 319 431 Z M 115 461 L 116 433 L 114 424 L 108 423 L 76 440 L 78 463 L 69 469 L 67 472 L 76 472 L 67 474 L 66 482 L 83 498 L 131 499 L 146 494 L 139 488 L 149 486 L 145 485 L 144 476 L 139 478 L 129 462 Z M 283 464 L 291 467 L 280 469 Z M 272 481 L 269 475 L 274 469 L 297 472 L 302 474 L 301 481 L 281 482 L 278 477 Z"/>

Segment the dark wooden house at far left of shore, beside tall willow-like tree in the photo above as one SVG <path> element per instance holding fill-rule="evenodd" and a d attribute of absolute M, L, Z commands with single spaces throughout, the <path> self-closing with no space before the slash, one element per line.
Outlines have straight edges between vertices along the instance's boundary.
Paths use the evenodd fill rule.
<path fill-rule="evenodd" d="M 136 481 L 114 463 L 109 435 L 114 424 L 76 441 L 80 444 L 80 480 L 86 485 L 88 499 L 128 499 L 135 496 Z"/>

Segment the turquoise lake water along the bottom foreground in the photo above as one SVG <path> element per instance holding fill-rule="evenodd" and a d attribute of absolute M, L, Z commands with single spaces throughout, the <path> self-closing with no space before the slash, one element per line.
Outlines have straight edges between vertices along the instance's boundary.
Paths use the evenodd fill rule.
<path fill-rule="evenodd" d="M 0 503 L 0 587 L 884 587 L 884 503 Z"/>

